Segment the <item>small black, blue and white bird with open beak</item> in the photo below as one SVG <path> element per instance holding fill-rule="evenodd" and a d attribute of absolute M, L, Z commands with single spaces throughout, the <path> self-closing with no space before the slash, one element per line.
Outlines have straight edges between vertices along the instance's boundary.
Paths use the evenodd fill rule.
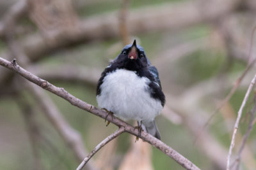
<path fill-rule="evenodd" d="M 165 103 L 156 67 L 136 40 L 102 72 L 97 85 L 100 108 L 123 120 L 137 120 L 152 136 L 160 139 L 155 117 Z"/>

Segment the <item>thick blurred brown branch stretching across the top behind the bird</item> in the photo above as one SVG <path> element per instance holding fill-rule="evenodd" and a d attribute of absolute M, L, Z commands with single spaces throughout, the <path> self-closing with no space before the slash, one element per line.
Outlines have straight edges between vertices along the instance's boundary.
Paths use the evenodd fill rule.
<path fill-rule="evenodd" d="M 143 9 L 131 10 L 127 16 L 127 30 L 130 34 L 138 34 L 152 31 L 175 30 L 188 27 L 201 22 L 211 22 L 231 13 L 236 9 L 237 0 L 204 0 L 180 3 L 166 3 L 159 6 L 147 6 Z M 204 10 L 202 10 L 204 9 Z M 159 12 L 152 12 L 159 11 Z M 52 39 L 54 44 L 49 44 L 49 39 L 42 34 L 29 34 L 20 44 L 24 46 L 26 54 L 32 60 L 38 60 L 45 53 L 49 53 L 61 46 L 67 46 L 81 41 L 95 39 L 116 38 L 120 36 L 116 13 L 93 16 L 74 24 L 74 32 L 65 34 L 56 31 Z M 151 22 L 148 22 L 150 20 Z"/>

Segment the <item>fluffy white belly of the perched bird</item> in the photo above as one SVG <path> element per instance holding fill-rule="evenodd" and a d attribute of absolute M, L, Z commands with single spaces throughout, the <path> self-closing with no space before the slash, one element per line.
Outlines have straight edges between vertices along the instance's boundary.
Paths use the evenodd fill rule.
<path fill-rule="evenodd" d="M 134 71 L 125 69 L 107 74 L 97 96 L 99 107 L 112 111 L 124 120 L 154 120 L 163 107 L 147 92 L 148 81 L 148 78 L 140 78 Z"/>

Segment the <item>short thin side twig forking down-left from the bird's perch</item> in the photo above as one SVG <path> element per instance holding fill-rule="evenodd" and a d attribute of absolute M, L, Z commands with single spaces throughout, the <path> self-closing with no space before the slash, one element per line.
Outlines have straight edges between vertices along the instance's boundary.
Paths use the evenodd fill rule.
<path fill-rule="evenodd" d="M 76 170 L 81 170 L 83 169 L 83 167 L 85 166 L 85 164 L 93 157 L 93 155 L 95 153 L 97 153 L 100 148 L 102 148 L 103 146 L 105 146 L 107 143 L 109 143 L 109 141 L 112 141 L 113 139 L 115 139 L 117 136 L 119 136 L 120 134 L 122 134 L 123 132 L 125 132 L 124 127 L 120 127 L 119 129 L 117 129 L 113 134 L 109 135 L 106 139 L 104 139 L 103 141 L 101 141 L 93 150 L 91 153 L 89 153 L 89 155 L 87 157 L 84 158 L 83 162 L 81 162 L 81 164 L 77 167 Z"/>

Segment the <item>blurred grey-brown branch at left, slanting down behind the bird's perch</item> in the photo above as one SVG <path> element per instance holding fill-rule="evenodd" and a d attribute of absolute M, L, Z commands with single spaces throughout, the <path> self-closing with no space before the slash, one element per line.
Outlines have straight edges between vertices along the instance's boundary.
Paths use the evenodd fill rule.
<path fill-rule="evenodd" d="M 9 11 L 10 16 L 6 15 L 6 19 L 4 21 L 4 26 L 6 30 L 4 30 L 4 41 L 8 45 L 10 53 L 13 56 L 18 57 L 20 63 L 23 66 L 27 66 L 29 58 L 24 53 L 22 46 L 15 40 L 15 34 L 13 33 L 13 29 L 15 29 L 15 25 L 17 22 L 17 18 L 19 18 L 19 14 L 26 11 L 26 6 L 28 6 L 26 0 L 22 0 L 19 3 L 12 6 L 11 10 Z M 10 28 L 8 28 L 10 27 Z M 14 60 L 13 60 L 14 62 Z M 49 122 L 54 126 L 54 128 L 60 132 L 60 136 L 65 141 L 67 146 L 72 150 L 78 162 L 84 158 L 87 154 L 86 149 L 84 148 L 83 140 L 77 131 L 75 131 L 62 117 L 58 108 L 54 106 L 51 99 L 42 92 L 42 90 L 35 88 L 35 86 L 31 83 L 28 83 L 29 90 L 31 90 L 33 96 L 39 101 L 41 108 L 44 110 L 46 117 L 48 118 Z M 93 168 L 92 164 L 88 164 L 88 169 L 95 169 Z"/>

